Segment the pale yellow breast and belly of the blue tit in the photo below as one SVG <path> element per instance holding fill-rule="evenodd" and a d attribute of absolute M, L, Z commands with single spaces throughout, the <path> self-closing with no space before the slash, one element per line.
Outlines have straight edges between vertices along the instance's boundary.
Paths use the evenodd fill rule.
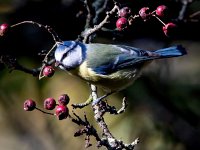
<path fill-rule="evenodd" d="M 138 74 L 137 69 L 124 69 L 109 75 L 100 75 L 88 68 L 86 62 L 70 72 L 91 84 L 101 86 L 104 90 L 109 92 L 126 88 L 133 83 Z"/>

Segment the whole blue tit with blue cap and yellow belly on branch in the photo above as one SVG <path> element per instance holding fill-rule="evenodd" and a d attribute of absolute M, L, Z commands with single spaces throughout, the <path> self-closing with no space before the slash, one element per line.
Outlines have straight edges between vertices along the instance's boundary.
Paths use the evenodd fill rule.
<path fill-rule="evenodd" d="M 152 60 L 179 57 L 186 50 L 181 45 L 149 51 L 126 45 L 64 41 L 57 43 L 54 54 L 59 68 L 103 88 L 103 99 L 131 85 Z"/>

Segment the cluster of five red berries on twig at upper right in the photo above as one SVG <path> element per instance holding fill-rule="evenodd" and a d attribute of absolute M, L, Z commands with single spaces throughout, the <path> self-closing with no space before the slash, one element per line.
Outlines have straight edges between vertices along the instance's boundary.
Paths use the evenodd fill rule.
<path fill-rule="evenodd" d="M 132 15 L 129 7 L 123 7 L 118 11 L 118 20 L 116 21 L 116 27 L 119 31 L 125 30 L 132 24 L 136 18 L 141 18 L 143 21 L 149 20 L 151 17 L 155 17 L 163 24 L 163 32 L 166 36 L 170 36 L 173 33 L 176 25 L 172 22 L 165 24 L 159 17 L 164 17 L 167 14 L 167 6 L 160 5 L 154 11 L 150 11 L 149 7 L 143 7 L 139 10 L 138 15 Z"/>

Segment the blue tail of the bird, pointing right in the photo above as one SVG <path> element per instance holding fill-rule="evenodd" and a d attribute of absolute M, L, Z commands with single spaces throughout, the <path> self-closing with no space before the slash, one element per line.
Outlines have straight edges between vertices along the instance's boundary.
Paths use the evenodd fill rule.
<path fill-rule="evenodd" d="M 154 52 L 159 54 L 160 58 L 178 57 L 187 54 L 185 48 L 181 45 L 159 49 Z"/>

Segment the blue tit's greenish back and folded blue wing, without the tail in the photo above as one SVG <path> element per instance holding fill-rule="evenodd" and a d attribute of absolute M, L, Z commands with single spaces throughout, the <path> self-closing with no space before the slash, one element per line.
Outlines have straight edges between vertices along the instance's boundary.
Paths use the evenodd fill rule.
<path fill-rule="evenodd" d="M 88 67 L 102 75 L 131 68 L 155 58 L 149 57 L 147 51 L 121 45 L 89 44 L 87 51 Z"/>

